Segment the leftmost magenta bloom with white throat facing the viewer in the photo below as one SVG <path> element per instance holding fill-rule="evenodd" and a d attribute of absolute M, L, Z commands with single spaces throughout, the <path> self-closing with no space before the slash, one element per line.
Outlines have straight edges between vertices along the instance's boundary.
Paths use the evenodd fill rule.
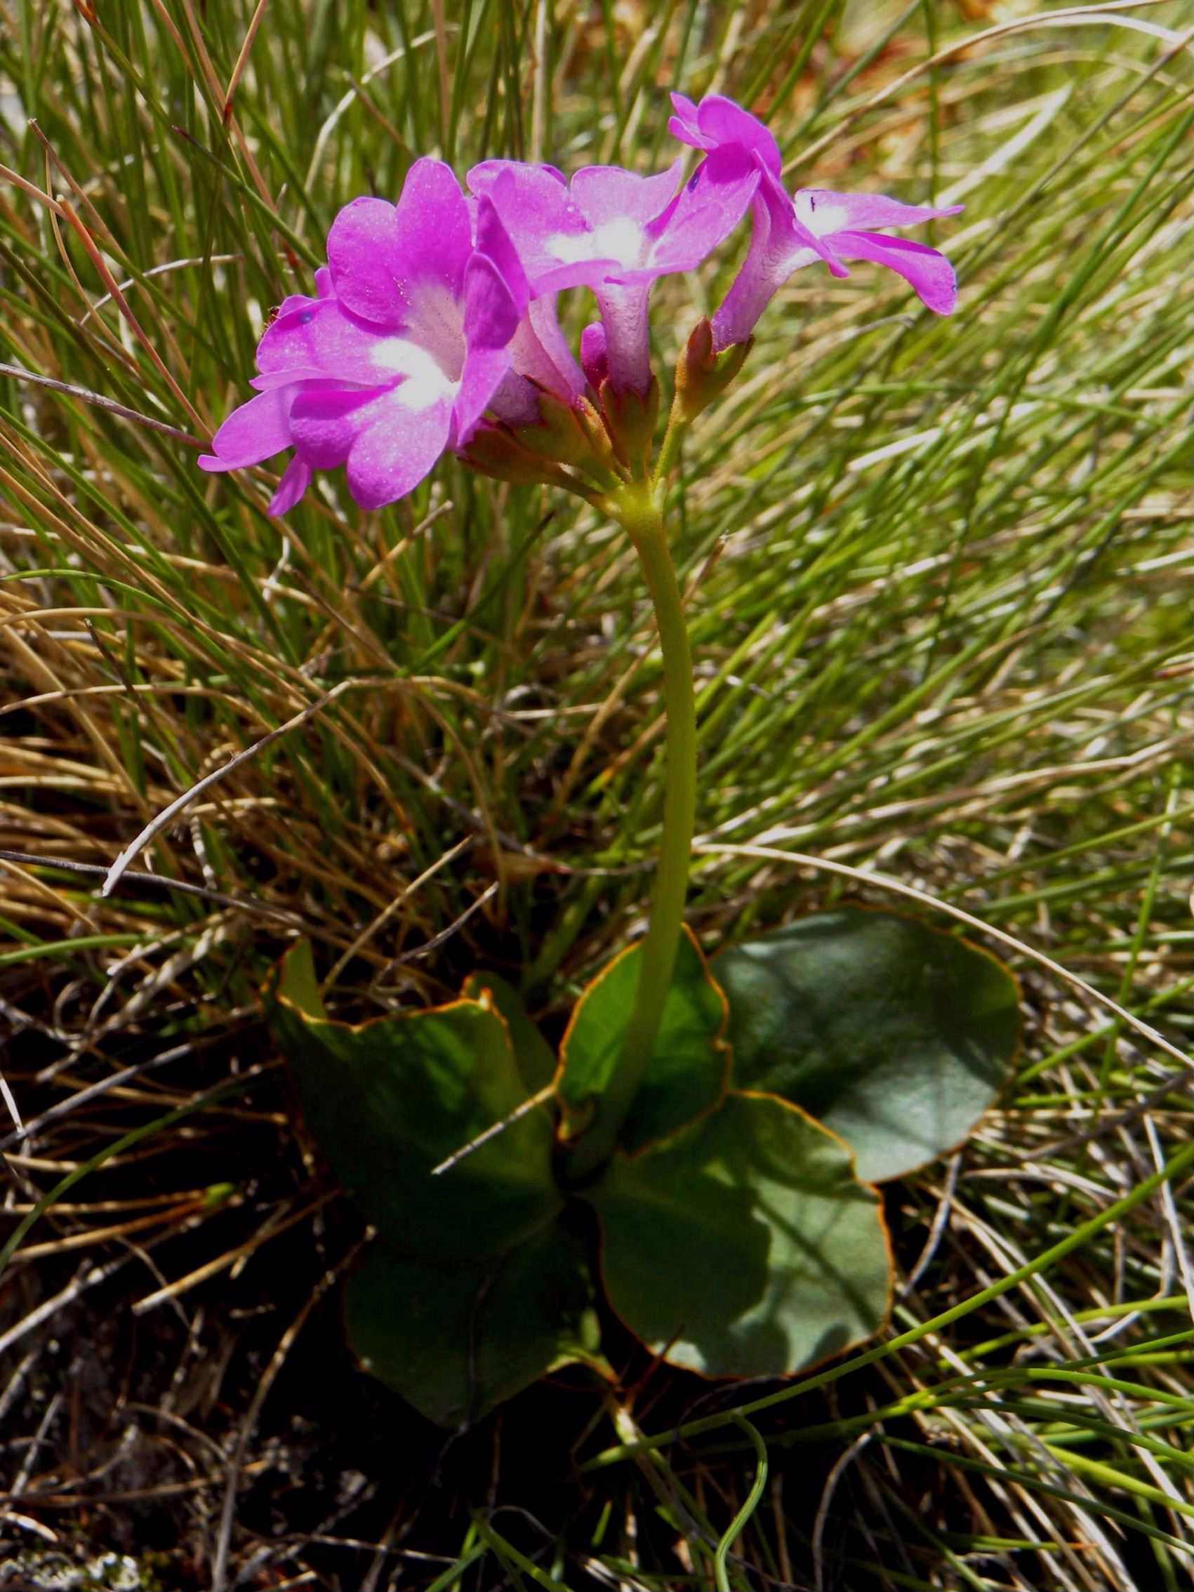
<path fill-rule="evenodd" d="M 293 447 L 271 514 L 298 503 L 312 470 L 338 465 L 371 509 L 416 487 L 444 449 L 466 446 L 511 371 L 529 298 L 494 207 L 474 209 L 476 247 L 470 202 L 433 159 L 416 161 L 398 205 L 345 205 L 318 298 L 285 301 L 258 345 L 258 396 L 220 427 L 204 470 Z M 549 306 L 541 320 L 549 336 Z"/>

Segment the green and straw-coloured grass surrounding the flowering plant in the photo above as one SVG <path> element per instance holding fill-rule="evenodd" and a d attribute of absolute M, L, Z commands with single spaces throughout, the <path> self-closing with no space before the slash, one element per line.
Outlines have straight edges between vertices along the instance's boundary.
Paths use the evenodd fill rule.
<path fill-rule="evenodd" d="M 0 1586 L 1188 1584 L 1189 45 L 1148 3 L 0 0 L 0 845 L 40 858 L 0 861 Z M 341 1016 L 489 966 L 559 1027 L 646 901 L 650 610 L 548 490 L 446 460 L 279 524 L 194 458 L 344 202 L 428 153 L 659 166 L 670 88 L 793 186 L 966 205 L 952 320 L 801 272 L 686 446 L 689 922 L 903 887 L 1027 1038 L 887 1191 L 877 1352 L 751 1436 L 775 1383 L 627 1339 L 616 1396 L 449 1441 L 344 1348 L 363 1232 L 256 992 L 304 933 Z"/>

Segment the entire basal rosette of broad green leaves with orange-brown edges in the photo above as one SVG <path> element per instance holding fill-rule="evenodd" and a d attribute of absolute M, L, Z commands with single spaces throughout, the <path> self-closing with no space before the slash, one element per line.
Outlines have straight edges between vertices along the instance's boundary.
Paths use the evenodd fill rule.
<path fill-rule="evenodd" d="M 712 971 L 686 931 L 616 1146 L 576 1176 L 640 957 L 583 992 L 557 1063 L 489 974 L 452 1005 L 349 1027 L 325 1014 L 306 944 L 283 963 L 275 1022 L 304 1118 L 379 1231 L 349 1285 L 353 1348 L 443 1425 L 568 1361 L 611 1374 L 579 1205 L 608 1305 L 677 1366 L 788 1375 L 869 1337 L 892 1291 L 869 1184 L 958 1143 L 1016 1052 L 1011 974 L 909 919 L 821 912 Z M 506 1121 L 552 1073 L 554 1111 Z"/>

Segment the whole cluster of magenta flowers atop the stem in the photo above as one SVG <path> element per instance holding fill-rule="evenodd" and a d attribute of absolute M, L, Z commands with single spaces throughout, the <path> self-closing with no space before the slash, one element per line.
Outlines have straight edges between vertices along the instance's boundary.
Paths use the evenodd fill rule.
<path fill-rule="evenodd" d="M 339 465 L 355 501 L 380 508 L 444 451 L 506 479 L 600 490 L 650 449 L 651 283 L 699 266 L 747 210 L 742 269 L 689 342 L 694 412 L 737 369 L 772 295 L 802 266 L 820 261 L 844 277 L 847 259 L 874 261 L 936 314 L 952 310 L 946 256 L 885 229 L 958 205 L 823 189 L 793 197 L 761 121 L 716 94 L 672 100 L 670 131 L 704 154 L 688 180 L 681 161 L 654 177 L 587 166 L 572 181 L 552 166 L 484 161 L 463 193 L 443 161 L 420 159 L 396 205 L 353 199 L 333 223 L 315 296 L 280 306 L 258 345 L 256 396 L 224 420 L 202 468 L 242 470 L 293 451 L 271 514 L 298 503 L 312 471 Z M 556 312 L 557 295 L 576 287 L 592 290 L 600 312 L 579 361 Z"/>

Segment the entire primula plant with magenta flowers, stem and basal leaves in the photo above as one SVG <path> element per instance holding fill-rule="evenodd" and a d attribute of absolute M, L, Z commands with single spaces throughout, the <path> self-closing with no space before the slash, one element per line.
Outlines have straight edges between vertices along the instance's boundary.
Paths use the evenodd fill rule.
<path fill-rule="evenodd" d="M 705 962 L 685 927 L 697 806 L 693 665 L 665 506 L 691 422 L 736 379 L 771 298 L 804 266 L 898 272 L 954 309 L 938 250 L 893 236 L 955 213 L 785 189 L 780 150 L 731 100 L 673 96 L 700 159 L 567 180 L 486 161 L 462 188 L 436 159 L 396 205 L 355 199 L 312 298 L 258 349 L 256 396 L 207 470 L 290 463 L 271 513 L 344 466 L 365 509 L 446 451 L 578 494 L 616 521 L 650 591 L 667 713 L 650 925 L 581 993 L 552 1054 L 517 992 L 478 971 L 460 998 L 360 1027 L 323 1009 L 310 949 L 272 1011 L 306 1121 L 376 1240 L 349 1283 L 363 1364 L 431 1418 L 476 1418 L 568 1361 L 613 1375 L 611 1310 L 705 1375 L 785 1375 L 882 1328 L 892 1256 L 876 1184 L 966 1138 L 1017 1044 L 992 957 L 904 917 L 839 909 Z M 750 212 L 745 261 L 693 330 L 659 425 L 650 296 Z M 557 296 L 600 318 L 576 353 Z"/>

